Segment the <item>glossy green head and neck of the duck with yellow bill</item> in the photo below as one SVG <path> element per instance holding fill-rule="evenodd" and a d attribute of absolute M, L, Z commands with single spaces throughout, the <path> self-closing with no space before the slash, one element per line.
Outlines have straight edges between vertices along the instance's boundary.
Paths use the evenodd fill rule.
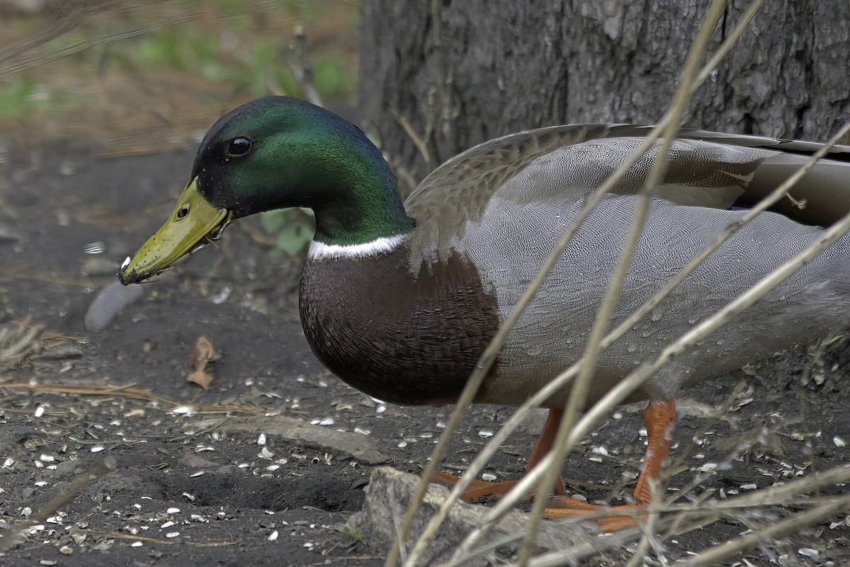
<path fill-rule="evenodd" d="M 210 128 L 171 216 L 118 275 L 140 282 L 241 216 L 293 206 L 313 209 L 315 239 L 326 244 L 413 227 L 381 152 L 356 126 L 297 98 L 259 98 Z"/>

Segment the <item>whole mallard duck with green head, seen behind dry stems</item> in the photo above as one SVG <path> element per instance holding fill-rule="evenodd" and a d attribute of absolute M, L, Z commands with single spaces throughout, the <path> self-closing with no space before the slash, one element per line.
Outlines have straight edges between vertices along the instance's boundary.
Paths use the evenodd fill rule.
<path fill-rule="evenodd" d="M 648 131 L 555 126 L 497 138 L 447 161 L 403 202 L 381 152 L 357 127 L 296 98 L 260 98 L 207 132 L 171 216 L 119 276 L 137 283 L 162 272 L 240 217 L 309 207 L 316 229 L 299 305 L 315 355 L 370 396 L 450 404 L 583 200 Z M 649 206 L 614 323 L 740 218 L 738 207 L 767 194 L 818 147 L 682 132 Z M 823 229 L 815 225 L 846 209 L 848 152 L 832 149 L 792 190 L 805 207 L 787 199 L 757 215 L 604 351 L 587 402 L 819 239 Z M 644 154 L 583 223 L 508 335 L 476 402 L 520 404 L 581 357 L 656 154 L 657 147 Z M 627 401 L 649 401 L 636 505 L 649 502 L 647 483 L 667 456 L 677 391 L 846 323 L 848 257 L 845 237 L 632 394 Z M 550 449 L 569 393 L 564 386 L 543 404 L 550 415 L 530 466 Z M 465 496 L 488 491 L 482 485 Z M 560 483 L 556 492 L 563 492 Z M 564 514 L 591 508 L 564 496 L 555 501 Z"/>

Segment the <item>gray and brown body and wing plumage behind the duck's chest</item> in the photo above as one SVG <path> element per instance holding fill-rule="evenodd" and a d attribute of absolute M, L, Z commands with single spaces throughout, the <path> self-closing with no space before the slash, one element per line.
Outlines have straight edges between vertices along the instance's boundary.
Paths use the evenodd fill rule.
<path fill-rule="evenodd" d="M 561 132 L 570 134 L 568 128 Z M 421 258 L 440 261 L 451 251 L 467 256 L 478 267 L 484 290 L 496 296 L 502 320 L 587 194 L 641 142 L 638 138 L 618 138 L 558 146 L 557 141 L 548 139 L 555 146 L 552 149 L 545 143 L 529 143 L 529 135 L 524 132 L 486 143 L 467 152 L 470 156 L 461 154 L 450 160 L 422 182 L 406 203 L 409 214 L 419 223 L 416 234 L 411 235 L 411 270 L 419 269 Z M 553 134 L 547 136 L 552 138 Z M 777 184 L 778 177 L 794 171 L 796 166 L 787 167 L 789 163 L 806 159 L 805 155 L 774 149 L 729 145 L 741 139 L 750 146 L 769 145 L 770 138 L 720 138 L 722 143 L 682 139 L 673 144 L 665 183 L 650 205 L 613 325 L 641 306 L 743 214 L 726 210 L 735 199 L 751 191 L 753 185 L 756 193 L 765 193 L 773 188 L 764 187 L 768 181 Z M 499 150 L 484 151 L 490 144 Z M 606 196 L 581 225 L 509 335 L 496 375 L 484 383 L 478 401 L 520 403 L 581 357 L 632 222 L 639 199 L 635 194 L 654 158 L 655 150 L 650 150 L 638 160 L 616 186 L 615 194 Z M 507 160 L 515 168 L 510 171 L 510 167 L 487 166 L 486 160 L 497 164 Z M 772 169 L 774 163 L 784 166 L 785 173 L 774 171 L 779 168 Z M 489 174 L 474 177 L 470 169 Z M 850 199 L 850 169 L 840 161 L 822 162 L 791 193 L 808 192 L 817 200 L 817 192 L 826 189 L 824 171 L 833 180 L 832 189 Z M 437 182 L 439 188 L 435 187 Z M 836 183 L 844 187 L 836 188 Z M 450 224 L 447 218 L 456 222 Z M 758 215 L 654 312 L 604 352 L 589 401 L 602 396 L 669 341 L 819 239 L 822 232 L 819 227 L 778 213 Z M 833 244 L 756 306 L 650 379 L 632 400 L 670 399 L 683 384 L 740 368 L 847 323 L 848 245 L 848 237 Z M 565 388 L 547 405 L 562 405 L 568 394 L 569 388 Z"/>

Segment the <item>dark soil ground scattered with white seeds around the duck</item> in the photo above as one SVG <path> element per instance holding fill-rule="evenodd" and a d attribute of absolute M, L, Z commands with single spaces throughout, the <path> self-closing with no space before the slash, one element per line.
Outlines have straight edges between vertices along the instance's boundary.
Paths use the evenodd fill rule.
<path fill-rule="evenodd" d="M 0 564 L 382 564 L 385 550 L 361 542 L 345 520 L 362 505 L 372 465 L 421 470 L 450 408 L 387 406 L 322 368 L 298 321 L 297 261 L 269 255 L 255 220 L 147 284 L 103 330 L 87 331 L 88 306 L 164 221 L 194 157 L 194 149 L 111 159 L 88 151 L 14 149 L 0 177 L 0 325 L 10 333 L 0 340 Z M 86 254 L 93 243 L 104 251 Z M 19 342 L 31 348 L 12 349 L 9 337 L 24 327 L 33 332 Z M 208 368 L 210 390 L 186 381 L 199 335 L 224 352 Z M 702 488 L 734 496 L 847 463 L 848 360 L 845 342 L 817 356 L 800 348 L 683 392 L 673 458 L 709 429 L 672 486 L 723 462 L 737 441 L 752 443 Z M 732 412 L 700 413 L 740 380 L 749 390 Z M 573 491 L 609 498 L 621 474 L 638 469 L 640 409 L 617 408 L 570 456 Z M 462 469 L 511 411 L 475 408 L 447 469 Z M 515 435 L 489 472 L 521 474 L 535 428 Z M 348 437 L 323 433 L 336 429 Z M 598 446 L 609 452 L 602 463 L 588 458 Z M 682 557 L 799 509 L 789 502 L 761 520 L 724 519 L 666 550 Z M 737 560 L 845 564 L 848 522 L 845 513 Z"/>

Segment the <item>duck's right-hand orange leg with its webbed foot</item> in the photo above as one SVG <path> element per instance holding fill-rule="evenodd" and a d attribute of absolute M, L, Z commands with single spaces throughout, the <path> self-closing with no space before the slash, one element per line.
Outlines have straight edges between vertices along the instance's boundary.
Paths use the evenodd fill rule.
<path fill-rule="evenodd" d="M 646 424 L 647 447 L 646 456 L 643 458 L 643 468 L 638 477 L 638 486 L 635 486 L 634 504 L 625 506 L 598 506 L 575 500 L 567 496 L 557 496 L 552 499 L 552 508 L 546 509 L 549 518 L 566 518 L 595 512 L 600 509 L 611 510 L 633 510 L 642 508 L 649 504 L 652 493 L 649 490 L 649 481 L 656 480 L 661 472 L 661 464 L 670 452 L 670 439 L 673 432 L 673 424 L 676 421 L 676 401 L 650 401 L 649 406 L 643 410 L 643 423 Z M 631 516 L 605 516 L 597 518 L 601 531 L 618 531 L 625 527 L 638 525 Z"/>

